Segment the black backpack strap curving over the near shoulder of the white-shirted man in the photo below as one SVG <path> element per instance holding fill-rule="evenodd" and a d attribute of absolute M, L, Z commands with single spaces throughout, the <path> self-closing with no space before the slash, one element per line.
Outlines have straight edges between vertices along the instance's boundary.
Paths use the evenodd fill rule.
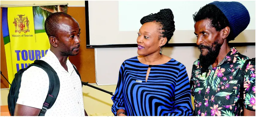
<path fill-rule="evenodd" d="M 49 77 L 49 90 L 39 116 L 44 116 L 46 111 L 52 107 L 60 91 L 60 80 L 56 71 L 45 61 L 35 60 L 31 66 L 37 66 L 46 71 Z"/>

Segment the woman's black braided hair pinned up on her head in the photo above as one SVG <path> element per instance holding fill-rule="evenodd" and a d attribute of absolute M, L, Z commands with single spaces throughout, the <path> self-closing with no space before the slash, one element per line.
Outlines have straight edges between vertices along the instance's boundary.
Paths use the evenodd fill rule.
<path fill-rule="evenodd" d="M 158 13 L 155 14 L 149 14 L 147 16 L 144 16 L 141 20 L 140 23 L 143 25 L 146 22 L 156 22 L 161 26 L 162 28 L 159 30 L 163 30 L 161 32 L 160 37 L 166 37 L 167 42 L 165 45 L 170 41 L 171 37 L 173 36 L 173 32 L 175 31 L 175 25 L 174 25 L 174 16 L 170 8 L 168 9 L 162 9 Z M 163 45 L 162 47 L 164 47 Z"/>

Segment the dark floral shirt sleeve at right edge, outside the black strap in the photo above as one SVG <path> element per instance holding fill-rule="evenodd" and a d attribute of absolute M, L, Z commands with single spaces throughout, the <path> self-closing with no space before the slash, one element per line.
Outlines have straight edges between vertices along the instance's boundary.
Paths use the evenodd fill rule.
<path fill-rule="evenodd" d="M 255 110 L 255 62 L 249 62 L 244 78 L 244 106 L 248 110 Z"/>

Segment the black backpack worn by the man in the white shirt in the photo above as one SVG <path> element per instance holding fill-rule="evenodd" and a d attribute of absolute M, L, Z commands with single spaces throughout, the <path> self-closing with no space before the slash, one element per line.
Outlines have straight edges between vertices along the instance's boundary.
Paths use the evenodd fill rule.
<path fill-rule="evenodd" d="M 9 108 L 11 116 L 14 116 L 14 110 L 15 110 L 16 102 L 17 102 L 17 99 L 19 96 L 19 90 L 21 87 L 22 74 L 25 70 L 29 69 L 29 67 L 31 67 L 31 66 L 36 66 L 36 67 L 42 68 L 43 70 L 46 71 L 46 73 L 48 74 L 48 77 L 49 77 L 48 94 L 43 103 L 43 107 L 41 109 L 39 116 L 45 115 L 46 111 L 52 107 L 52 105 L 54 104 L 54 102 L 59 94 L 60 80 L 59 80 L 59 77 L 58 77 L 57 73 L 55 72 L 55 70 L 45 61 L 35 60 L 34 63 L 30 64 L 27 68 L 19 70 L 14 76 L 14 79 L 12 81 L 12 84 L 10 86 L 10 91 L 8 94 L 8 108 Z M 73 67 L 81 79 L 81 76 L 80 76 L 78 70 L 75 68 L 74 65 L 73 65 Z"/>

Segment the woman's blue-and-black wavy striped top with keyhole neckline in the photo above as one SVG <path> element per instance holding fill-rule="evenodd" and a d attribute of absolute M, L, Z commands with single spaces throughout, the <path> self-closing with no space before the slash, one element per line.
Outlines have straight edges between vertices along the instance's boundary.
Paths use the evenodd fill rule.
<path fill-rule="evenodd" d="M 191 116 L 185 66 L 173 58 L 165 64 L 152 65 L 145 82 L 148 67 L 137 57 L 123 62 L 112 97 L 112 112 L 116 115 L 118 109 L 125 109 L 128 116 Z"/>

